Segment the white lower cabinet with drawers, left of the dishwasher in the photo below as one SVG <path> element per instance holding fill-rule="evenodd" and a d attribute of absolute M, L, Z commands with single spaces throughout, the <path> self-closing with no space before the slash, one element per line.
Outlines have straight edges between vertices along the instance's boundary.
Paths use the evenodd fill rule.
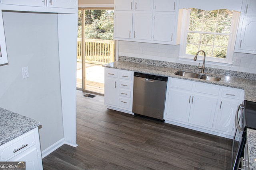
<path fill-rule="evenodd" d="M 105 67 L 105 105 L 110 109 L 132 113 L 132 71 Z"/>

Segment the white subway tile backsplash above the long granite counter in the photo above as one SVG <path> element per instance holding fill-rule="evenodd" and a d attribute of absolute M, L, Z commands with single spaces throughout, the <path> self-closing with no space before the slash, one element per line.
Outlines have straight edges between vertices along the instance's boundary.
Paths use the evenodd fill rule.
<path fill-rule="evenodd" d="M 142 48 L 145 50 L 141 53 Z M 138 43 L 130 41 L 119 41 L 119 54 L 126 57 L 137 57 L 142 59 L 152 59 L 159 61 L 168 61 L 173 63 L 198 65 L 198 62 L 179 61 L 180 45 L 164 45 L 153 43 Z M 236 62 L 237 61 L 237 62 Z M 241 72 L 250 72 L 256 74 L 256 55 L 245 53 L 234 53 L 232 66 L 218 66 L 205 63 L 206 67 L 221 68 L 225 70 L 234 70 Z"/>

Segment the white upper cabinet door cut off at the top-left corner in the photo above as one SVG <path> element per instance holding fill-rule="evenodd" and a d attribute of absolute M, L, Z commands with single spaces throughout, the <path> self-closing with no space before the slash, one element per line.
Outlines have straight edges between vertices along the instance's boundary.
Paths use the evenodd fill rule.
<path fill-rule="evenodd" d="M 23 6 L 45 6 L 46 0 L 1 0 L 2 4 Z"/>

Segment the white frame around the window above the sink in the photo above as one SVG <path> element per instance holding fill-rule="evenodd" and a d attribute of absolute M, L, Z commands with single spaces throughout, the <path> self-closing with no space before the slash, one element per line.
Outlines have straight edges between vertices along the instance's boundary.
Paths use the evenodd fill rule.
<path fill-rule="evenodd" d="M 181 27 L 181 32 L 183 34 L 181 34 L 181 37 L 180 37 L 180 55 L 178 59 L 180 61 L 192 61 L 194 59 L 194 55 L 186 54 L 188 27 L 190 22 L 190 9 L 181 9 L 181 10 L 183 10 L 182 11 L 182 27 Z M 226 59 L 206 56 L 206 63 L 212 64 L 212 65 L 224 65 L 224 66 L 231 67 L 232 59 L 234 55 L 234 47 L 236 42 L 236 33 L 238 29 L 239 18 L 240 18 L 240 12 L 233 11 Z M 201 53 L 198 55 L 199 61 L 203 60 L 203 56 L 201 55 L 202 55 Z"/>

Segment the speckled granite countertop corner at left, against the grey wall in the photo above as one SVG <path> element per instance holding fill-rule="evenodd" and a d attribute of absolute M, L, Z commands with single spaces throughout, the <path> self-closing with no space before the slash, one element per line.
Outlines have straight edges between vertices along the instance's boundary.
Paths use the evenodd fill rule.
<path fill-rule="evenodd" d="M 39 121 L 0 107 L 0 145 L 41 125 Z"/>

